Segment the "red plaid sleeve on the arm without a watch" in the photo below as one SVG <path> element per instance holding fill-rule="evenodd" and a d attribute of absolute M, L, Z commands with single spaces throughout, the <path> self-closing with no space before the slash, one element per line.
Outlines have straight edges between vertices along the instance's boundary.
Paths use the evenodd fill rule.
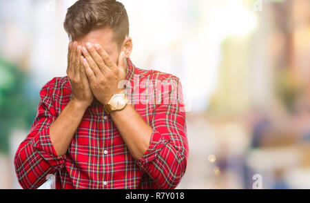
<path fill-rule="evenodd" d="M 65 155 L 58 156 L 50 140 L 50 125 L 56 118 L 52 102 L 52 86 L 55 84 L 53 79 L 43 86 L 37 116 L 14 157 L 15 171 L 23 189 L 37 189 L 48 174 L 63 167 Z"/>

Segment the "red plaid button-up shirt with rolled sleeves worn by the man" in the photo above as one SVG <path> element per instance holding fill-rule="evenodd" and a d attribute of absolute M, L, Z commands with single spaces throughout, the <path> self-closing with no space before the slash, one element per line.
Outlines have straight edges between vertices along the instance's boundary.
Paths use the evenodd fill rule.
<path fill-rule="evenodd" d="M 94 101 L 87 108 L 68 152 L 58 156 L 50 125 L 70 101 L 68 77 L 43 86 L 37 116 L 14 158 L 19 183 L 37 189 L 50 174 L 56 189 L 174 189 L 185 173 L 188 155 L 179 79 L 136 68 L 127 59 L 125 93 L 153 132 L 148 150 L 135 160 L 110 115 Z M 129 118 L 130 119 L 130 118 Z"/>

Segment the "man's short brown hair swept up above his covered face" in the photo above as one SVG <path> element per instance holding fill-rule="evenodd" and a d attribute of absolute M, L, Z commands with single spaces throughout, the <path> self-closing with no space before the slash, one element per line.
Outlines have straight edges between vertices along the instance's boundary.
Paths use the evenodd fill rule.
<path fill-rule="evenodd" d="M 99 28 L 112 28 L 118 48 L 129 35 L 129 20 L 123 3 L 116 0 L 79 0 L 68 8 L 63 23 L 71 40 Z"/>

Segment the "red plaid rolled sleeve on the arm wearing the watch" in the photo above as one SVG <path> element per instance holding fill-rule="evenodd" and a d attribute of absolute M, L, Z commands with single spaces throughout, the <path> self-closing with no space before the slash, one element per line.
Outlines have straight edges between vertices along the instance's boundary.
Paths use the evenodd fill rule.
<path fill-rule="evenodd" d="M 149 148 L 136 162 L 160 189 L 175 189 L 185 173 L 189 151 L 185 106 L 178 78 L 173 77 L 162 86 Z"/>

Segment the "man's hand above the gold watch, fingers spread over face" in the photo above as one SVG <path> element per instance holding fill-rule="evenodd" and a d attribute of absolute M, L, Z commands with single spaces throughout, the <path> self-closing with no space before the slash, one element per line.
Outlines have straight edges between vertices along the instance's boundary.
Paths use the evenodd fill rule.
<path fill-rule="evenodd" d="M 118 84 L 126 77 L 125 52 L 121 52 L 116 66 L 99 44 L 86 43 L 86 47 L 83 47 L 83 65 L 92 93 L 101 104 L 107 104 L 113 95 L 123 90 Z"/>

